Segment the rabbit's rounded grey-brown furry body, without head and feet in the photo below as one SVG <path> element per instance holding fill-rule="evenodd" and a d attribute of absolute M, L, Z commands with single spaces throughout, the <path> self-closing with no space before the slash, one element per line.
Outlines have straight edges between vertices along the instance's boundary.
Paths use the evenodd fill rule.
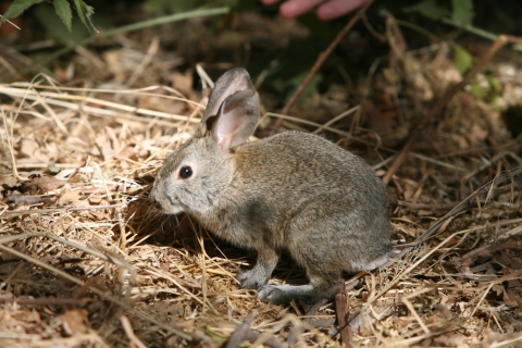
<path fill-rule="evenodd" d="M 388 196 L 362 159 L 300 132 L 245 144 L 234 158 L 233 207 L 222 206 L 228 207 L 220 219 L 227 221 L 225 238 L 289 249 L 300 264 L 324 268 L 321 273 L 385 263 Z"/>

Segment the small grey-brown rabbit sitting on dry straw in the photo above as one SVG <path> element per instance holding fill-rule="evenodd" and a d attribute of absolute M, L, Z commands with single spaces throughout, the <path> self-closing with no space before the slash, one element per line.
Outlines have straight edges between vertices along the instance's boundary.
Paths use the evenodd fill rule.
<path fill-rule="evenodd" d="M 331 299 L 344 271 L 388 260 L 386 188 L 363 160 L 319 136 L 286 132 L 248 142 L 258 120 L 248 73 L 227 71 L 196 134 L 166 158 L 149 198 L 165 213 L 185 211 L 219 237 L 256 249 L 256 265 L 237 279 L 260 299 Z M 283 249 L 306 269 L 308 285 L 266 285 Z"/>

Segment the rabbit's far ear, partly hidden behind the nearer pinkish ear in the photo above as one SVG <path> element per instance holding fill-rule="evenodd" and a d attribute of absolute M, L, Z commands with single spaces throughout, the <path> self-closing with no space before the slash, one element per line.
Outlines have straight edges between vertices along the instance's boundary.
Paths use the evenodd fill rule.
<path fill-rule="evenodd" d="M 247 89 L 250 89 L 250 75 L 245 69 L 231 69 L 217 78 L 214 89 L 210 94 L 207 110 L 201 119 L 200 133 L 204 134 L 207 132 L 207 121 L 209 121 L 209 117 L 217 115 L 226 98 L 236 91 Z"/>

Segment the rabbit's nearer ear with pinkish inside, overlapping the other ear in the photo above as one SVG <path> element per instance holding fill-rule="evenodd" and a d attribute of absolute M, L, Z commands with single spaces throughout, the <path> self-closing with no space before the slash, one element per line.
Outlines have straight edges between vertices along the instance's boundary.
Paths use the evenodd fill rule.
<path fill-rule="evenodd" d="M 213 137 L 222 149 L 236 147 L 248 140 L 259 120 L 258 92 L 240 90 L 223 101 L 212 129 Z"/>

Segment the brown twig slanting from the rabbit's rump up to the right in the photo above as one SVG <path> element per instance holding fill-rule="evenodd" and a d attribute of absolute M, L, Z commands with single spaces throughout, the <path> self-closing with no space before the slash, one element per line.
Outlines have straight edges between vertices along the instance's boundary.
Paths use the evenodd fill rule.
<path fill-rule="evenodd" d="M 470 80 L 473 78 L 473 76 L 476 75 L 476 73 L 485 66 L 489 60 L 495 55 L 495 53 L 506 44 L 508 40 L 511 40 L 514 38 L 508 37 L 506 35 L 499 35 L 497 40 L 493 42 L 493 45 L 489 47 L 487 50 L 486 54 L 481 59 L 478 63 L 476 63 L 470 72 L 465 75 L 465 77 L 457 85 L 453 87 L 450 87 L 444 96 L 435 103 L 435 105 L 430 110 L 427 114 L 422 117 L 422 120 L 419 122 L 419 125 L 417 126 L 415 130 L 411 134 L 410 138 L 408 139 L 408 142 L 406 142 L 405 147 L 402 150 L 397 154 L 395 158 L 394 162 L 391 162 L 391 165 L 389 166 L 388 171 L 386 174 L 383 176 L 383 182 L 384 184 L 388 184 L 389 181 L 391 179 L 391 176 L 397 172 L 399 169 L 400 164 L 406 159 L 406 156 L 410 151 L 410 148 L 412 147 L 413 144 L 419 140 L 419 137 L 422 135 L 424 129 L 426 128 L 427 124 L 432 121 L 432 119 L 443 110 L 444 107 L 453 98 L 453 96 L 465 85 L 470 83 Z"/>

